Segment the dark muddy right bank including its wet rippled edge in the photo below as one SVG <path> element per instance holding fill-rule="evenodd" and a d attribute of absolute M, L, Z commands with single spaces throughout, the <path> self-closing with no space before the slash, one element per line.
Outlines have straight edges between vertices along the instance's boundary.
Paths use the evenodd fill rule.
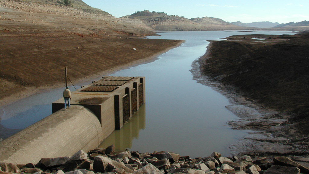
<path fill-rule="evenodd" d="M 308 35 L 271 44 L 236 40 L 211 41 L 207 53 L 192 65 L 194 79 L 230 99 L 226 108 L 240 119 L 228 124 L 252 130 L 232 151 L 306 162 Z"/>

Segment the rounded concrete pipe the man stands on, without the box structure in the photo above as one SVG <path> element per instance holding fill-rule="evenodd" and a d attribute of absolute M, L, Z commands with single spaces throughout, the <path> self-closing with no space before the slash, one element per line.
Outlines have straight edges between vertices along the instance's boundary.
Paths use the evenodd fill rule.
<path fill-rule="evenodd" d="M 0 162 L 38 163 L 41 158 L 71 156 L 78 150 L 89 151 L 102 141 L 102 127 L 93 112 L 71 105 L 0 143 Z"/>

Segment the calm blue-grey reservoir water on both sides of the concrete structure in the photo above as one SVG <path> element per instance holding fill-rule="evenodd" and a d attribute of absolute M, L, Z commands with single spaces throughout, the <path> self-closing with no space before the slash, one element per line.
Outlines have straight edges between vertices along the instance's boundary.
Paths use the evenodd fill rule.
<path fill-rule="evenodd" d="M 116 149 L 139 152 L 173 151 L 192 157 L 213 151 L 230 155 L 229 146 L 247 132 L 233 130 L 226 122 L 238 117 L 226 109 L 227 98 L 197 83 L 190 72 L 195 59 L 205 54 L 206 40 L 222 40 L 231 35 L 250 34 L 231 31 L 163 32 L 148 38 L 182 39 L 181 46 L 169 50 L 154 62 L 118 71 L 111 76 L 145 76 L 146 104 L 121 130 L 114 131 L 100 146 L 115 144 Z M 259 31 L 257 34 L 295 34 Z M 100 77 L 98 77 L 100 79 Z M 91 79 L 81 85 L 91 83 Z M 73 87 L 70 87 L 73 89 Z M 0 138 L 50 115 L 51 103 L 62 97 L 63 89 L 53 89 L 19 100 L 0 112 Z"/>

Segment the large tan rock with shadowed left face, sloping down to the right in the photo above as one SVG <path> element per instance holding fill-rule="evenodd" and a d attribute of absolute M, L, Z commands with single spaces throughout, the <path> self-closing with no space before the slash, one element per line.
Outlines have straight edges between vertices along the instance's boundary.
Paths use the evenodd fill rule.
<path fill-rule="evenodd" d="M 126 167 L 124 164 L 118 163 L 108 157 L 97 156 L 93 162 L 93 169 L 96 172 L 110 172 L 114 169 L 124 169 L 126 173 L 134 173 L 133 170 Z"/>

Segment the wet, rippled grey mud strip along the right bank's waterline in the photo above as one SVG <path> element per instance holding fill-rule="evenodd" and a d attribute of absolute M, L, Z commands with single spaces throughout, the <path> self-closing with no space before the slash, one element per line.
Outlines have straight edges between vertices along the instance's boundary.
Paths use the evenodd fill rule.
<path fill-rule="evenodd" d="M 308 157 L 305 147 L 301 148 L 298 145 L 298 140 L 302 137 L 295 133 L 294 123 L 288 120 L 291 117 L 290 113 L 267 108 L 261 103 L 243 97 L 236 92 L 235 87 L 223 85 L 218 81 L 220 77 L 215 79 L 202 73 L 203 63 L 211 58 L 211 46 L 210 41 L 206 53 L 192 63 L 190 71 L 197 83 L 210 86 L 230 101 L 231 105 L 226 106 L 226 109 L 239 119 L 227 122 L 229 127 L 250 131 L 247 136 L 230 146 L 231 153 L 250 156 L 284 155 L 308 164 L 309 161 L 304 158 Z"/>

